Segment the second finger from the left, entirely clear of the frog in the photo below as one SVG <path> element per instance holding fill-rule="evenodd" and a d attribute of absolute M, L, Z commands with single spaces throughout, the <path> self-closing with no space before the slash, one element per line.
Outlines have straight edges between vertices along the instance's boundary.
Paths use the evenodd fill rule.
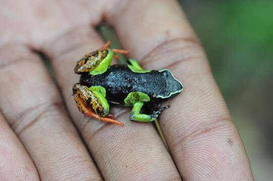
<path fill-rule="evenodd" d="M 23 45 L 3 47 L 0 57 L 0 109 L 41 179 L 99 179 L 39 57 Z"/>

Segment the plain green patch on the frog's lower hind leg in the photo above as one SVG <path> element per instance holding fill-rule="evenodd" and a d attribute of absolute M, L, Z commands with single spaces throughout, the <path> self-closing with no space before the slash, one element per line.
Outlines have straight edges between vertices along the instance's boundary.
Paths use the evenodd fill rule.
<path fill-rule="evenodd" d="M 105 98 L 106 97 L 105 88 L 102 86 L 91 86 L 89 89 L 101 101 L 102 107 L 104 108 L 104 113 L 105 113 L 105 115 L 108 115 L 109 114 L 109 104 Z"/>

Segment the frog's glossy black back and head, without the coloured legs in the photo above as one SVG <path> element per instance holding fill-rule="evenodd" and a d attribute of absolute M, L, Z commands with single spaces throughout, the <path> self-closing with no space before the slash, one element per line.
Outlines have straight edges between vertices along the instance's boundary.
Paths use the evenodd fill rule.
<path fill-rule="evenodd" d="M 121 105 L 124 105 L 124 99 L 132 92 L 147 94 L 151 102 L 162 102 L 166 99 L 157 96 L 167 97 L 173 92 L 182 90 L 181 83 L 174 79 L 168 70 L 136 73 L 126 65 L 119 64 L 109 66 L 106 72 L 96 76 L 82 74 L 80 83 L 88 87 L 92 85 L 105 87 L 106 99 Z M 171 97 L 173 96 L 175 95 Z"/>

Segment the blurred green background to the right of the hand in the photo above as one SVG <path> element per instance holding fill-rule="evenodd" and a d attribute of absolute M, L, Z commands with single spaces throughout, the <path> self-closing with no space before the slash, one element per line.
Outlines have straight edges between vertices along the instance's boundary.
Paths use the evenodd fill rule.
<path fill-rule="evenodd" d="M 273 1 L 179 1 L 210 60 L 256 180 L 273 177 Z"/>

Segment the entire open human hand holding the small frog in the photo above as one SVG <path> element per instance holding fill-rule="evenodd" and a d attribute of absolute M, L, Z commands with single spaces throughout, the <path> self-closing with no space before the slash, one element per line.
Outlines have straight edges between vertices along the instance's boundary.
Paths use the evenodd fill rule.
<path fill-rule="evenodd" d="M 128 109 L 112 110 L 123 128 L 77 110 L 74 66 L 104 44 L 93 29 L 102 20 L 113 25 L 129 57 L 145 69 L 168 68 L 183 83 L 160 118 L 171 154 L 152 124 L 128 120 Z M 0 169 L 0 179 L 253 180 L 206 56 L 177 2 L 6 0 L 0 22 L 0 154 L 12 155 L 1 156 L 0 165 L 18 173 Z M 56 82 L 32 50 L 49 57 Z"/>

